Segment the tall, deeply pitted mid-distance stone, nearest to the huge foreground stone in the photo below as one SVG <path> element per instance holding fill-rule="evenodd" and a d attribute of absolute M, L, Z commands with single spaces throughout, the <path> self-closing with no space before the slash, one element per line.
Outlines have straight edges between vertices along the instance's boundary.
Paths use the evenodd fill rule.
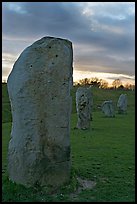
<path fill-rule="evenodd" d="M 90 128 L 90 103 L 89 90 L 87 88 L 79 87 L 76 91 L 76 109 L 77 109 L 77 128 Z"/>

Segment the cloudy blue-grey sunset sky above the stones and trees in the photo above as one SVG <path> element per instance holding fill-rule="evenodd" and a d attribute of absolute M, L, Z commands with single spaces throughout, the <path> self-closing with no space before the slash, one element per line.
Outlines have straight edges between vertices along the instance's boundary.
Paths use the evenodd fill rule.
<path fill-rule="evenodd" d="M 73 80 L 135 83 L 135 2 L 2 2 L 2 78 L 45 36 L 73 45 Z"/>

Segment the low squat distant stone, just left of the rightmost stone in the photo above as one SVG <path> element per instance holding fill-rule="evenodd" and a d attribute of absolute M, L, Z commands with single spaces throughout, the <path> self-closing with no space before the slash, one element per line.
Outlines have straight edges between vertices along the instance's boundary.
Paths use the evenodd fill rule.
<path fill-rule="evenodd" d="M 110 101 L 104 101 L 102 103 L 102 112 L 107 117 L 115 117 L 115 110 L 112 100 Z"/>

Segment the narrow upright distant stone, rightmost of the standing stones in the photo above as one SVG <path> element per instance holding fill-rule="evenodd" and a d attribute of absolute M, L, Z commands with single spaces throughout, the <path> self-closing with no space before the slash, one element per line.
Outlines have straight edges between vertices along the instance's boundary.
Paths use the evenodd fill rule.
<path fill-rule="evenodd" d="M 123 114 L 127 111 L 127 95 L 121 94 L 117 102 L 118 113 Z"/>

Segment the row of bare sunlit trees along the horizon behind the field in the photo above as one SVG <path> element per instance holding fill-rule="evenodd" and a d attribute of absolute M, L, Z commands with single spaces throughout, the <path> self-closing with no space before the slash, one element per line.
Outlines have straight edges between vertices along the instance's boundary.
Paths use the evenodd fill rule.
<path fill-rule="evenodd" d="M 106 80 L 98 79 L 97 77 L 80 79 L 79 81 L 74 82 L 74 86 L 93 86 L 102 89 L 135 89 L 134 84 L 123 84 L 120 79 L 115 79 L 110 86 Z"/>

